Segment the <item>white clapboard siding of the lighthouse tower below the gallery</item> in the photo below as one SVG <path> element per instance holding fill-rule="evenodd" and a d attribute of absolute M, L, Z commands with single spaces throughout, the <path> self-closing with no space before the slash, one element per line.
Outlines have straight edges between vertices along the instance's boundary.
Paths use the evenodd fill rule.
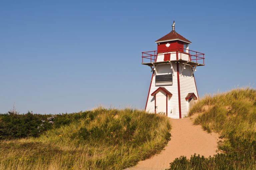
<path fill-rule="evenodd" d="M 175 55 L 176 56 L 176 55 Z M 198 98 L 198 94 L 196 91 L 196 85 L 193 75 L 191 76 L 192 69 L 189 65 L 185 66 L 183 72 L 181 73 L 183 64 L 179 64 L 179 79 L 180 79 L 180 99 L 181 99 L 181 117 L 185 117 L 188 113 L 188 103 L 186 101 L 186 96 L 188 93 L 195 93 Z M 165 87 L 169 92 L 172 93 L 172 96 L 168 98 L 168 117 L 170 118 L 179 118 L 179 98 L 178 98 L 178 80 L 177 80 L 177 69 L 176 63 L 173 63 L 173 67 L 175 73 L 172 79 L 172 85 L 165 85 Z M 161 74 L 173 74 L 171 69 L 171 64 L 158 64 L 156 67 L 157 75 Z M 155 75 L 154 72 L 151 88 L 149 92 L 149 97 L 147 101 L 146 111 L 149 113 L 155 113 L 155 97 L 151 96 L 151 94 L 157 90 L 161 86 L 155 86 Z"/>

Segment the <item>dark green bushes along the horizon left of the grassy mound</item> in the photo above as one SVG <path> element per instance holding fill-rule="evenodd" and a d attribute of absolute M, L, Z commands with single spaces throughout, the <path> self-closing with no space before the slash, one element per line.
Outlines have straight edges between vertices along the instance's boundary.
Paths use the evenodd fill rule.
<path fill-rule="evenodd" d="M 91 111 L 57 115 L 33 114 L 32 112 L 26 114 L 14 114 L 13 112 L 0 114 L 0 140 L 38 137 L 47 130 L 68 125 L 85 117 L 93 119 L 94 115 Z"/>

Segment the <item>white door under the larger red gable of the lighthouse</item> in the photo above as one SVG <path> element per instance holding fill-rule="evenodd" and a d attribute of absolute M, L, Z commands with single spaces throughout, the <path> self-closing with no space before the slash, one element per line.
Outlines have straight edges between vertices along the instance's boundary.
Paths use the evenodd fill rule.
<path fill-rule="evenodd" d="M 166 93 L 162 90 L 156 93 L 156 113 L 166 114 Z"/>

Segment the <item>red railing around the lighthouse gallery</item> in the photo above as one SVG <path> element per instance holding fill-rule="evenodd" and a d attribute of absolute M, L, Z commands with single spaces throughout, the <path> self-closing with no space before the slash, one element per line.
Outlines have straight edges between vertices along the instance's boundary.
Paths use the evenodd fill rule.
<path fill-rule="evenodd" d="M 146 63 L 145 60 L 147 61 L 147 63 L 155 62 L 157 59 L 157 55 L 171 56 L 171 54 L 176 54 L 176 60 L 180 60 L 180 59 L 184 58 L 184 55 L 182 55 L 182 54 L 185 54 L 185 55 L 187 54 L 188 59 L 185 59 L 185 60 L 196 62 L 196 63 L 202 61 L 202 63 L 199 63 L 199 64 L 204 64 L 204 54 L 203 53 L 193 51 L 193 50 L 187 50 L 184 48 L 142 52 L 142 63 Z M 144 62 L 143 62 L 143 59 L 144 59 Z M 168 59 L 170 60 L 170 57 Z M 168 59 L 165 61 L 168 61 Z"/>

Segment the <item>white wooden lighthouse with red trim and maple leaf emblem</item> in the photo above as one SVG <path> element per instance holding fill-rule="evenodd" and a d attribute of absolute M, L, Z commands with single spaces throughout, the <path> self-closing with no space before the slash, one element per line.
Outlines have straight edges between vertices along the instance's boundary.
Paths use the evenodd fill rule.
<path fill-rule="evenodd" d="M 142 64 L 151 68 L 145 111 L 183 118 L 198 100 L 194 73 L 204 66 L 204 54 L 189 49 L 191 41 L 172 31 L 155 41 L 156 51 L 142 52 Z"/>

